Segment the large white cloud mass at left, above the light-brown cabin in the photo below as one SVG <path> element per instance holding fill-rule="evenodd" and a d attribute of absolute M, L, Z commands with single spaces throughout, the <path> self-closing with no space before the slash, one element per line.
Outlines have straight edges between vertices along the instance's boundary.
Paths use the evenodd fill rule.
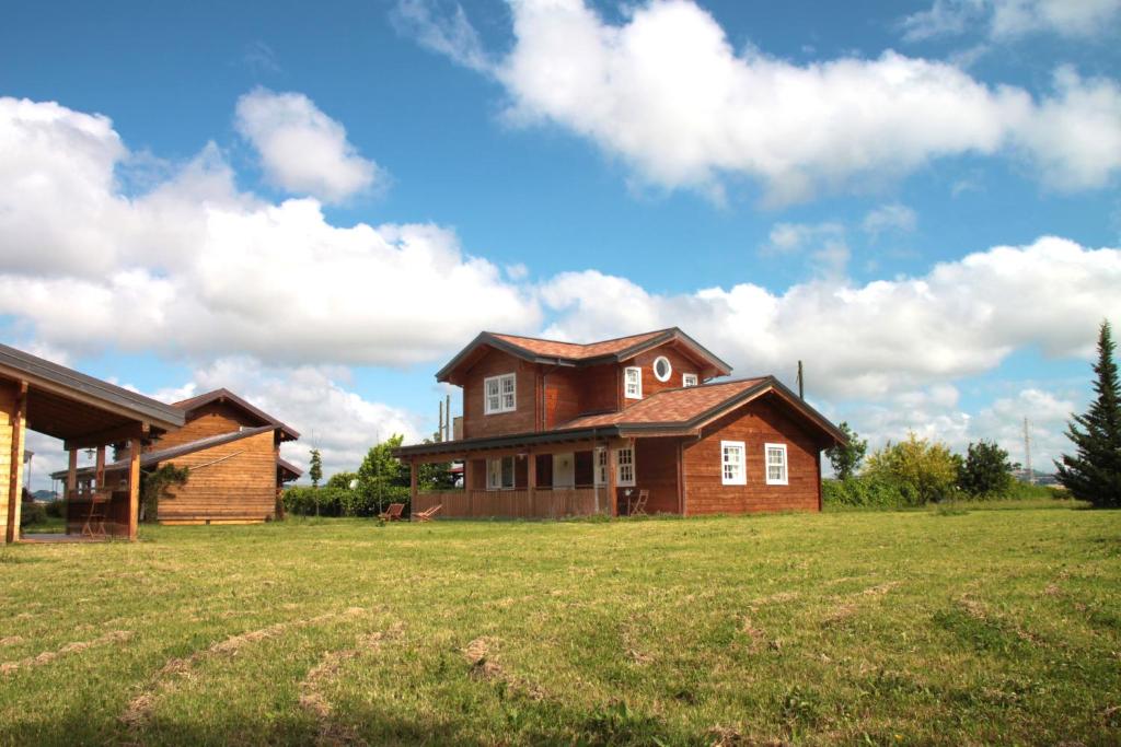
<path fill-rule="evenodd" d="M 314 199 L 239 194 L 213 147 L 129 197 L 128 157 L 103 116 L 0 99 L 0 314 L 39 345 L 397 365 L 539 324 L 444 228 L 339 227 Z"/>

